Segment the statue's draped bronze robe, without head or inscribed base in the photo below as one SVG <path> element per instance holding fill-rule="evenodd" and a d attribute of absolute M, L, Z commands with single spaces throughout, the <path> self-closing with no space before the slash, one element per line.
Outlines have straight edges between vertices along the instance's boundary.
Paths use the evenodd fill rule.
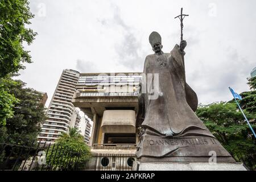
<path fill-rule="evenodd" d="M 148 82 L 147 93 L 139 96 L 137 127 L 150 131 L 153 135 L 213 137 L 203 122 L 196 116 L 196 93 L 185 82 L 184 53 L 176 45 L 171 53 L 148 55 L 144 62 L 146 75 L 153 75 Z M 159 74 L 159 90 L 154 85 L 154 74 Z M 158 90 L 159 96 L 150 100 L 149 93 Z M 154 93 L 156 94 L 156 93 Z"/>

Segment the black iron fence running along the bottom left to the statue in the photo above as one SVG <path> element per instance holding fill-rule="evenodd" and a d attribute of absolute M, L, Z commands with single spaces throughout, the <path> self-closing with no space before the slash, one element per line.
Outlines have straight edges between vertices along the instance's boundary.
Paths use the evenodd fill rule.
<path fill-rule="evenodd" d="M 14 171 L 131 171 L 133 154 L 98 154 L 58 144 L 31 146 L 0 143 L 0 170 Z"/>

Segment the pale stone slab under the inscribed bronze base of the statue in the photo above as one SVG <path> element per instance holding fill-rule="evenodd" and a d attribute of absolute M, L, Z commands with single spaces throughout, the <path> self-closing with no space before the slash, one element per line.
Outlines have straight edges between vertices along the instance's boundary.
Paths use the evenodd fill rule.
<path fill-rule="evenodd" d="M 134 171 L 247 171 L 242 163 L 135 162 Z"/>

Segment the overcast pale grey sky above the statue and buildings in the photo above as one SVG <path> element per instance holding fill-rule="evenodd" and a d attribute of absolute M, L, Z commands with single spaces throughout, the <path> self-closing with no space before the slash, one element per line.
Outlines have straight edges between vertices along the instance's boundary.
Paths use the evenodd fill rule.
<path fill-rule="evenodd" d="M 19 78 L 47 92 L 48 101 L 63 69 L 80 72 L 142 72 L 152 54 L 148 36 L 158 31 L 163 51 L 180 42 L 183 12 L 186 79 L 199 102 L 232 99 L 228 86 L 249 90 L 246 78 L 256 67 L 256 1 L 85 1 L 31 0 L 38 36 L 31 46 L 34 63 Z"/>

